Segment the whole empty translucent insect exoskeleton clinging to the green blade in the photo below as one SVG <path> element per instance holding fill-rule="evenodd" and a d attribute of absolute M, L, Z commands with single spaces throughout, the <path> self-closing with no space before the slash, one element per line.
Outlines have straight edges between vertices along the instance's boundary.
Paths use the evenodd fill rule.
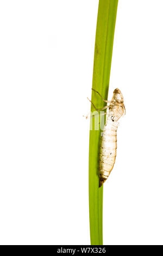
<path fill-rule="evenodd" d="M 96 90 L 94 91 L 98 93 Z M 98 95 L 101 96 L 99 93 Z M 108 179 L 108 176 L 114 167 L 117 148 L 118 120 L 122 115 L 126 114 L 123 95 L 120 89 L 116 88 L 114 90 L 111 101 L 104 100 L 103 98 L 102 100 L 106 102 L 107 105 L 101 109 L 96 108 L 90 101 L 96 111 L 106 109 L 106 123 L 101 135 L 99 150 L 99 187 L 101 187 L 106 179 Z"/>

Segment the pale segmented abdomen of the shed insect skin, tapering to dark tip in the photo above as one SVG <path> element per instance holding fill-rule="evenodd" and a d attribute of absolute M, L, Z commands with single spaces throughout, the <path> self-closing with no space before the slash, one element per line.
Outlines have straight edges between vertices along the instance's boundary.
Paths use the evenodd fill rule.
<path fill-rule="evenodd" d="M 109 121 L 105 124 L 99 150 L 99 187 L 108 179 L 114 167 L 117 148 L 117 124 Z"/>

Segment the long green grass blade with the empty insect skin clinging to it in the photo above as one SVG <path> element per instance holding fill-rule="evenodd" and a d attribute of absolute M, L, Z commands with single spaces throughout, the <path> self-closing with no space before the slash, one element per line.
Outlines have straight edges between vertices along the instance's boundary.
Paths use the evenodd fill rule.
<path fill-rule="evenodd" d="M 118 0 L 99 0 L 92 88 L 108 98 L 112 47 Z M 92 101 L 97 108 L 104 106 L 95 92 Z M 95 111 L 91 106 L 91 111 Z M 90 131 L 89 150 L 89 209 L 91 245 L 103 245 L 103 186 L 99 188 L 98 153 L 100 130 Z"/>

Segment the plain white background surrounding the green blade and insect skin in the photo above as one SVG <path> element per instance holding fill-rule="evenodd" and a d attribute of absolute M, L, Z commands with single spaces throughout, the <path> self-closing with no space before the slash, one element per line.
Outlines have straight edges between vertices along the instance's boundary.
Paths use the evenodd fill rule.
<path fill-rule="evenodd" d="M 0 243 L 87 245 L 98 0 L 0 2 Z M 120 0 L 109 99 L 122 90 L 105 245 L 163 244 L 163 2 Z"/>

